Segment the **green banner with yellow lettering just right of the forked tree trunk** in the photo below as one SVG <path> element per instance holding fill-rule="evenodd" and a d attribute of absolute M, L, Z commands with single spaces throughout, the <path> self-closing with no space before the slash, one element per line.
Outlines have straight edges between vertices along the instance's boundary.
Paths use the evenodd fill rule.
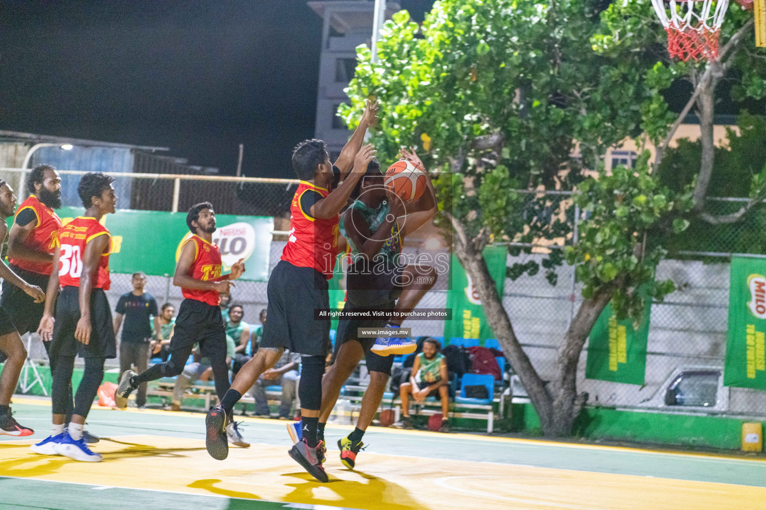
<path fill-rule="evenodd" d="M 607 304 L 588 337 L 585 377 L 643 385 L 651 313 L 649 294 L 644 294 L 643 314 L 637 328 L 633 327 L 633 320 L 617 320 L 612 305 Z"/>

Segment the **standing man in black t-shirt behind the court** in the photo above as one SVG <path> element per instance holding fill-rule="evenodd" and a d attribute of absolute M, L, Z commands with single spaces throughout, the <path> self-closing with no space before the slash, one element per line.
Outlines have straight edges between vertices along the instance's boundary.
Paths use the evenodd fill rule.
<path fill-rule="evenodd" d="M 157 301 L 147 292 L 146 274 L 134 273 L 133 292 L 127 292 L 117 301 L 116 316 L 114 317 L 114 334 L 116 336 L 120 324 L 123 324 L 123 336 L 119 342 L 119 378 L 123 372 L 135 367 L 139 374 L 146 371 L 149 365 L 149 343 L 152 341 L 152 324 L 149 317 L 154 317 L 154 338 L 162 338 L 157 312 Z M 123 323 L 124 317 L 124 323 Z M 146 405 L 146 384 L 139 386 L 136 394 L 136 405 L 143 408 Z"/>

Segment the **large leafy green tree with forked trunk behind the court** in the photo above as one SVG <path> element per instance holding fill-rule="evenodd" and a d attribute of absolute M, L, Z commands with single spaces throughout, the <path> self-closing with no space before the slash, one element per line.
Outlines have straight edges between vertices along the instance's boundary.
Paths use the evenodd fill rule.
<path fill-rule="evenodd" d="M 341 106 L 349 125 L 364 100 L 381 101 L 373 141 L 383 162 L 403 145 L 421 145 L 424 161 L 441 169 L 437 180 L 443 226 L 454 232 L 453 251 L 480 294 L 492 326 L 519 375 L 548 436 L 571 434 L 586 395 L 575 384 L 578 360 L 594 322 L 612 301 L 620 317 L 640 313 L 636 289 L 656 299 L 673 291 L 655 282 L 661 236 L 682 231 L 691 191 L 674 193 L 650 172 L 648 154 L 635 171 L 603 172 L 601 155 L 626 137 L 663 133 L 672 119 L 663 108 L 656 57 L 595 51 L 588 41 L 603 29 L 596 3 L 563 0 L 443 0 L 422 27 L 401 11 L 387 21 L 378 62 L 358 47 L 355 78 Z M 659 23 L 658 23 L 659 25 Z M 661 28 L 660 28 L 661 30 Z M 650 125 L 654 122 L 656 125 Z M 575 149 L 581 158 L 573 158 Z M 601 168 L 598 179 L 583 167 Z M 591 216 L 580 221 L 580 241 L 565 252 L 577 264 L 584 300 L 561 339 L 549 385 L 535 371 L 483 260 L 490 242 L 531 242 L 570 236 L 575 219 L 553 219 L 545 197 L 527 190 L 572 190 Z M 553 215 L 555 216 L 555 215 Z M 511 249 L 512 251 L 512 249 Z M 553 250 L 542 261 L 548 280 L 563 262 Z M 509 268 L 518 276 L 536 265 Z"/>

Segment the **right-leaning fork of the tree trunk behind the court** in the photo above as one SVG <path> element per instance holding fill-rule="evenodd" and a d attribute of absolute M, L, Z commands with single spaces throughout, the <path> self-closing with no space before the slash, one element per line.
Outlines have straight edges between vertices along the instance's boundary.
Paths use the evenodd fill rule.
<path fill-rule="evenodd" d="M 619 284 L 619 282 L 618 282 Z M 556 376 L 552 384 L 553 428 L 550 435 L 555 437 L 571 435 L 578 414 L 588 400 L 587 394 L 577 394 L 577 367 L 585 340 L 591 334 L 594 324 L 604 311 L 617 285 L 605 285 L 580 305 L 561 345 L 558 346 Z M 548 435 L 548 433 L 546 433 Z"/>

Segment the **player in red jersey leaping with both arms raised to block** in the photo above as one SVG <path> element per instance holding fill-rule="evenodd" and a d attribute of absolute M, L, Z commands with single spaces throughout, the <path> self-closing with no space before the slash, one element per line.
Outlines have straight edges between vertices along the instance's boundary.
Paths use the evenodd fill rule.
<path fill-rule="evenodd" d="M 336 161 L 342 184 L 334 190 L 333 167 L 323 141 L 303 141 L 293 152 L 293 169 L 301 182 L 290 206 L 290 235 L 282 260 L 269 278 L 269 320 L 260 349 L 242 367 L 221 404 L 211 409 L 206 419 L 208 453 L 215 459 L 223 460 L 228 455 L 224 428 L 234 404 L 277 362 L 284 349 L 290 349 L 302 355 L 299 396 L 304 427 L 303 441 L 290 450 L 290 456 L 316 479 L 328 481 L 316 430 L 330 324 L 314 320 L 314 310 L 329 308 L 327 280 L 332 278 L 338 254 L 338 214 L 375 157 L 372 145 L 362 147 L 362 141 L 368 126 L 375 122 L 376 112 L 377 103 L 368 102 L 362 121 Z"/>

